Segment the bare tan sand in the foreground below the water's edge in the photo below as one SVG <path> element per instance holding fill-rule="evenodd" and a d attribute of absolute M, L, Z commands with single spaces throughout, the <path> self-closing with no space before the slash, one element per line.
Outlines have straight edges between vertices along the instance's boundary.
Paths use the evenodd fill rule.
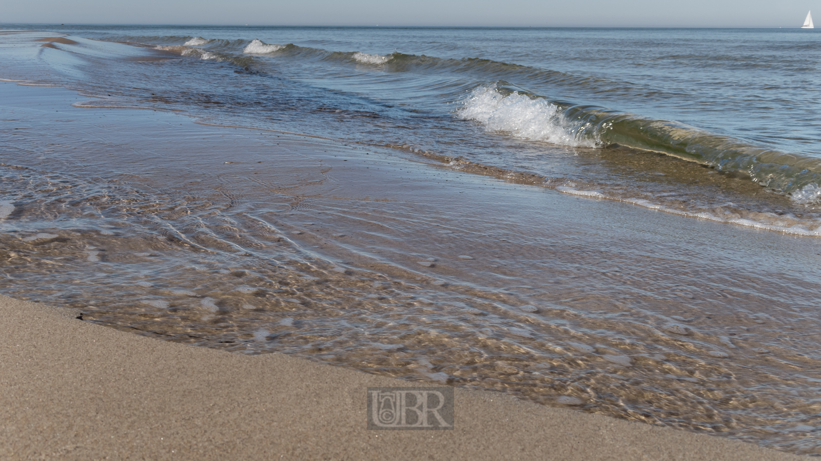
<path fill-rule="evenodd" d="M 152 340 L 78 312 L 0 297 L 0 458 L 802 459 L 462 389 L 453 431 L 367 431 L 365 388 L 407 381 Z"/>

